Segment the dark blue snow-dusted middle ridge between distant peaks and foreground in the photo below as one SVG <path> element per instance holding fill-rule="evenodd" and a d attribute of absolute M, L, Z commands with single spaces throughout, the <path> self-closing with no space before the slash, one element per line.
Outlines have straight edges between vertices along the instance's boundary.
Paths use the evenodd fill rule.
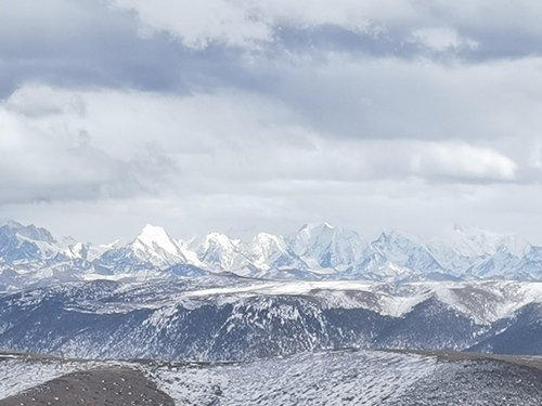
<path fill-rule="evenodd" d="M 540 340 L 521 338 L 521 331 L 542 320 L 541 291 L 538 283 L 395 285 L 219 276 L 73 283 L 0 298 L 0 349 L 199 361 L 341 348 L 493 351 L 495 340 L 535 349 Z M 504 344 L 499 349 L 509 351 Z"/>

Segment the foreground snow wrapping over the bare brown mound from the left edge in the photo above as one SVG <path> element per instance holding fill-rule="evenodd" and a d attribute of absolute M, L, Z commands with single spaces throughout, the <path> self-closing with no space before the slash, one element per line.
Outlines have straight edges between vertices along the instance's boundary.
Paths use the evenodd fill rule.
<path fill-rule="evenodd" d="M 326 405 L 379 404 L 393 400 L 433 374 L 435 357 L 386 352 L 330 352 L 255 363 L 205 365 L 184 363 L 66 362 L 0 356 L 0 400 L 74 371 L 104 367 L 142 370 L 176 404 Z M 325 396 L 323 398 L 322 396 Z M 367 403 L 369 402 L 369 403 Z"/>

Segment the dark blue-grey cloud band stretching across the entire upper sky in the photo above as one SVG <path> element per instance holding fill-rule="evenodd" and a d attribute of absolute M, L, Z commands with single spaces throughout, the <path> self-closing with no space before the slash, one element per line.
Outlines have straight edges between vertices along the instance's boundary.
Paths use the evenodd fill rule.
<path fill-rule="evenodd" d="M 272 25 L 273 38 L 258 51 L 228 47 L 211 40 L 202 49 L 191 49 L 172 30 L 142 35 L 134 12 L 122 11 L 104 1 L 50 1 L 36 6 L 29 0 L 2 5 L 0 13 L 0 97 L 7 97 L 24 82 L 46 82 L 62 87 L 132 88 L 188 93 L 217 87 L 267 91 L 281 73 L 253 66 L 250 53 L 270 61 L 284 52 L 319 54 L 362 53 L 367 57 L 411 60 L 429 57 L 443 63 L 460 58 L 483 62 L 492 58 L 539 55 L 540 35 L 489 26 L 477 29 L 460 17 L 443 17 L 476 47 L 455 44 L 434 50 L 412 37 L 416 22 L 370 21 L 354 30 L 340 24 Z M 37 10 L 35 10 L 37 9 Z M 442 10 L 420 9 L 425 25 L 437 21 Z M 422 18 L 423 16 L 423 18 Z M 325 21 L 325 19 L 324 19 Z M 429 23 L 427 23 L 429 21 Z M 274 23 L 273 23 L 274 24 Z M 422 25 L 422 28 L 424 25 Z"/>

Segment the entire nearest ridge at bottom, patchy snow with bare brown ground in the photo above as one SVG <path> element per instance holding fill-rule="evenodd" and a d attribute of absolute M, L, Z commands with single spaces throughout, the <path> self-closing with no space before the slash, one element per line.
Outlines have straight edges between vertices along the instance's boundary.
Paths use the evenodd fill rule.
<path fill-rule="evenodd" d="M 0 405 L 539 405 L 542 371 L 482 355 L 334 351 L 209 365 L 0 356 Z M 116 365 L 114 364 L 116 363 Z M 539 364 L 537 364 L 539 366 Z M 17 379 L 10 370 L 18 372 Z M 29 378 L 26 380 L 24 378 Z M 23 378 L 23 379 L 21 379 Z"/>

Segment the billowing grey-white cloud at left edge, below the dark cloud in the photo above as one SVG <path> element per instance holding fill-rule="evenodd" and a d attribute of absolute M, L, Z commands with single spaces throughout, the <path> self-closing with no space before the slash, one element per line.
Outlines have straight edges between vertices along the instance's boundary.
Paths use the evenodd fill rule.
<path fill-rule="evenodd" d="M 0 204 L 96 200 L 155 193 L 169 171 L 165 154 L 152 144 L 138 155 L 112 157 L 94 147 L 83 129 L 61 121 L 53 106 L 31 117 L 0 105 Z M 36 106 L 30 106 L 36 108 Z M 66 106 L 67 115 L 77 115 Z M 48 112 L 48 113 L 46 113 Z M 46 117 L 48 128 L 38 121 Z"/>

